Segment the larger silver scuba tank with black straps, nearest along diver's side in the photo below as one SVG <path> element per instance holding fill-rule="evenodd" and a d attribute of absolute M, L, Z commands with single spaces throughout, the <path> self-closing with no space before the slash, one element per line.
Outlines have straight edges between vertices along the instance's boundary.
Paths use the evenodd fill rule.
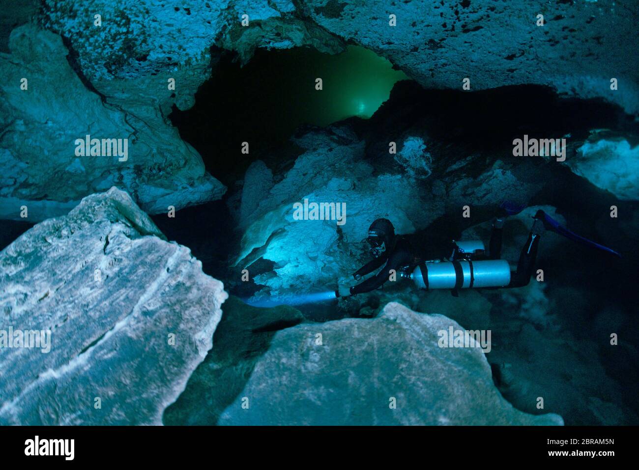
<path fill-rule="evenodd" d="M 506 260 L 421 263 L 410 276 L 420 289 L 504 287 L 511 282 Z"/>

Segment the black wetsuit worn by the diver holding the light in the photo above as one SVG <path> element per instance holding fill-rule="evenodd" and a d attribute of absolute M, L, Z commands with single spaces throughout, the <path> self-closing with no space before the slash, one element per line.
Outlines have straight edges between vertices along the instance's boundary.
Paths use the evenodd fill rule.
<path fill-rule="evenodd" d="M 486 209 L 475 208 L 475 212 L 479 212 L 486 216 Z M 488 214 L 494 212 L 494 209 L 488 209 Z M 488 217 L 484 218 L 485 220 Z M 366 263 L 359 268 L 353 275 L 364 276 L 374 270 L 384 266 L 380 272 L 373 277 L 369 277 L 366 281 L 350 288 L 351 295 L 370 292 L 378 289 L 386 281 L 389 281 L 390 271 L 395 270 L 399 275 L 399 270 L 404 267 L 415 267 L 422 261 L 429 260 L 448 260 L 452 261 L 455 253 L 452 240 L 458 239 L 461 232 L 465 230 L 471 223 L 478 223 L 477 218 L 459 221 L 451 217 L 441 217 L 435 223 L 431 224 L 426 231 L 414 233 L 412 235 L 397 235 L 395 237 L 394 246 L 378 258 Z M 447 228 L 448 230 L 437 230 L 438 228 Z M 452 237 L 440 236 L 439 233 L 451 233 Z M 473 260 L 498 260 L 502 251 L 502 232 L 503 229 L 493 224 L 491 232 L 489 251 L 485 254 L 473 256 Z M 507 287 L 521 287 L 530 282 L 530 276 L 535 266 L 535 258 L 537 256 L 537 245 L 539 244 L 539 235 L 541 231 L 534 229 L 528 235 L 526 244 L 521 249 L 520 259 L 517 270 L 511 272 L 511 282 Z"/>

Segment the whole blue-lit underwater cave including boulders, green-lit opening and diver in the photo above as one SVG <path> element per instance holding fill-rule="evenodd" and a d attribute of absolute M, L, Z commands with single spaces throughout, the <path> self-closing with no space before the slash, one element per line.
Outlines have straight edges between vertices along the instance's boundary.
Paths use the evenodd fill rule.
<path fill-rule="evenodd" d="M 108 60 L 87 46 L 102 36 L 70 26 L 50 2 L 37 24 L 24 15 L 7 23 L 16 29 L 3 36 L 0 69 L 72 86 L 38 91 L 35 75 L 35 98 L 0 96 L 0 319 L 26 330 L 22 312 L 33 312 L 42 328 L 60 327 L 56 364 L 104 359 L 95 365 L 104 383 L 78 372 L 63 401 L 93 393 L 73 392 L 80 380 L 114 395 L 126 395 L 114 385 L 123 376 L 168 382 L 150 397 L 136 381 L 135 409 L 107 403 L 105 418 L 60 416 L 639 423 L 636 57 L 611 52 L 606 64 L 601 32 L 578 44 L 568 26 L 531 30 L 530 48 L 569 64 L 559 77 L 500 38 L 466 54 L 473 35 L 488 34 L 472 26 L 485 10 L 475 2 L 427 7 L 436 26 L 367 26 L 366 40 L 343 24 L 358 6 L 320 3 L 245 29 L 228 26 L 233 18 L 220 26 L 204 6 L 171 6 L 162 31 L 187 21 L 178 15 L 194 28 L 169 35 L 180 47 L 152 29 L 151 45 L 137 41 L 122 20 L 128 45 L 101 53 Z M 592 22 L 591 5 L 559 18 L 569 8 L 552 6 L 552 21 Z M 215 37 L 193 26 L 200 15 Z M 631 84 L 621 97 L 612 64 Z M 128 161 L 68 151 L 89 133 L 128 139 Z M 131 318 L 162 341 L 137 344 Z M 174 356 L 150 360 L 144 374 L 110 343 L 142 357 L 164 351 L 167 332 L 180 339 Z M 472 332 L 482 333 L 469 341 Z M 472 360 L 448 349 L 471 347 L 483 349 Z M 42 381 L 18 395 L 0 389 L 0 424 L 63 419 L 51 418 L 54 404 L 35 418 L 33 403 L 56 386 L 36 359 L 0 356 L 11 378 Z M 174 369 L 178 378 L 165 380 Z M 415 407 L 410 416 L 373 403 L 399 393 L 391 383 Z M 243 415 L 247 397 L 256 411 Z M 2 410 L 10 398 L 22 403 L 13 415 Z M 459 416 L 433 411 L 457 404 Z"/>

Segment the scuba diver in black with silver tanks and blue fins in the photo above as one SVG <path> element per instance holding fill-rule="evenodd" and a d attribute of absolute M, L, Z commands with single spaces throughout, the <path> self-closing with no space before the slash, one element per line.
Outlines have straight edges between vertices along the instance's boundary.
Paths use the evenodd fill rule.
<path fill-rule="evenodd" d="M 335 296 L 348 297 L 381 288 L 386 281 L 390 280 L 391 274 L 409 277 L 421 289 L 450 289 L 455 296 L 460 288 L 523 287 L 530 283 L 539 239 L 546 230 L 620 256 L 619 253 L 608 247 L 567 230 L 540 209 L 533 217 L 534 223 L 528 234 L 528 240 L 521 249 L 517 268 L 511 272 L 509 263 L 500 259 L 502 231 L 507 216 L 519 214 L 524 208 L 525 206 L 509 202 L 500 205 L 497 217 L 493 221 L 488 253 L 486 253 L 481 241 L 456 242 L 455 240 L 451 241 L 449 237 L 439 235 L 440 233 L 454 233 L 454 231 L 461 235 L 461 231 L 465 227 L 457 226 L 454 228 L 454 220 L 443 219 L 448 230 L 436 230 L 437 226 L 433 230 L 431 225 L 428 228 L 428 235 L 421 233 L 396 235 L 395 228 L 388 219 L 377 219 L 371 224 L 367 237 L 373 260 L 359 268 L 353 277 L 359 281 L 362 276 L 382 266 L 384 268 L 356 286 L 351 288 L 339 286 L 335 291 Z M 485 206 L 481 206 L 474 210 L 481 214 L 487 209 Z M 495 213 L 494 209 L 488 210 Z M 466 219 L 466 223 L 468 220 Z M 452 230 L 450 230 L 451 224 Z M 435 225 L 437 224 L 435 223 Z"/>

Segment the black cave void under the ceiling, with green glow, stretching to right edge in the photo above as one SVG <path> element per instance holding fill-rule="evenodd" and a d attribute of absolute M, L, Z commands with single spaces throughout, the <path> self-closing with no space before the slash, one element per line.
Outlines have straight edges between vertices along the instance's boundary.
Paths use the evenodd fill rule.
<path fill-rule="evenodd" d="M 475 154 L 486 156 L 485 161 L 477 159 L 479 167 L 469 165 L 465 171 L 471 177 L 481 175 L 486 162 L 497 156 L 513 158 L 512 140 L 523 135 L 584 139 L 597 128 L 639 133 L 631 117 L 601 99 L 567 98 L 550 87 L 530 84 L 470 92 L 462 91 L 461 85 L 428 89 L 406 80 L 390 62 L 362 47 L 350 46 L 336 55 L 308 47 L 258 49 L 245 66 L 231 52 L 219 54 L 212 76 L 196 93 L 195 105 L 184 111 L 174 108 L 169 117 L 181 138 L 199 151 L 206 170 L 229 190 L 220 201 L 184 209 L 187 217 L 180 230 L 163 216 L 154 220 L 169 238 L 192 249 L 205 272 L 224 281 L 231 279 L 229 260 L 238 254 L 240 243 L 231 214 L 233 202 L 227 202 L 242 194 L 241 182 L 253 161 L 264 161 L 274 180 L 286 174 L 303 152 L 291 136 L 296 129 L 304 131 L 304 124 L 325 127 L 350 118 L 346 124 L 366 141 L 365 158 L 385 172 L 397 171 L 388 158 L 390 140 L 401 145 L 401 136 L 424 136 L 429 151 L 438 156 L 433 161 L 433 170 L 438 171 L 427 184 L 450 165 Z M 316 78 L 323 78 L 321 91 L 316 90 Z M 360 112 L 358 100 L 366 101 L 372 115 Z M 249 142 L 248 155 L 241 152 L 242 142 Z M 567 170 L 563 173 L 571 176 Z M 561 190 L 546 186 L 543 198 L 531 203 L 551 203 L 569 213 L 579 212 L 580 207 L 590 210 L 574 204 L 576 196 L 566 196 L 568 190 L 571 195 L 579 193 L 581 184 L 568 189 L 560 185 Z M 270 272 L 273 263 L 259 258 L 251 271 Z M 262 287 L 252 282 L 227 286 L 242 297 Z"/>

